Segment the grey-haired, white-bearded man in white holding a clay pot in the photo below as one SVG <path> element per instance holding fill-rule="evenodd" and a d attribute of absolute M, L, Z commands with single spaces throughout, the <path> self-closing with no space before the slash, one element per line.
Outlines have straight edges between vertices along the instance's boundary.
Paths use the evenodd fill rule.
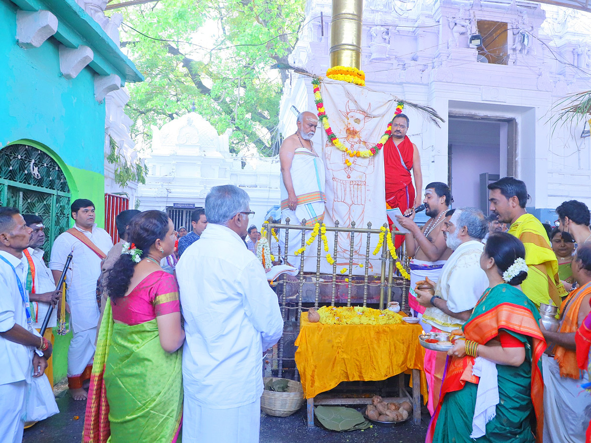
<path fill-rule="evenodd" d="M 480 268 L 482 239 L 488 232 L 482 211 L 476 208 L 447 211 L 442 230 L 447 247 L 453 253 L 441 269 L 434 293 L 416 290 L 417 301 L 426 307 L 422 321 L 431 325 L 431 332 L 461 328 L 488 288 L 488 278 Z M 446 357 L 445 353 L 425 352 L 424 367 L 429 385 L 427 407 L 431 414 L 439 402 Z"/>

